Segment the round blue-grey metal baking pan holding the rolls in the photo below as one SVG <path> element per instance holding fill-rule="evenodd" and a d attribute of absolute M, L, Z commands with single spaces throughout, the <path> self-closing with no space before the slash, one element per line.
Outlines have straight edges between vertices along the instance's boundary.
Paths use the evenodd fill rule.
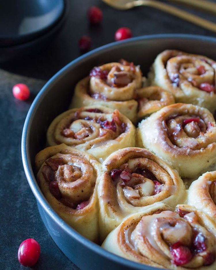
<path fill-rule="evenodd" d="M 81 269 L 139 269 L 156 268 L 134 263 L 103 250 L 68 226 L 43 196 L 35 180 L 34 158 L 44 148 L 50 122 L 67 110 L 75 84 L 92 67 L 125 58 L 140 64 L 147 74 L 154 58 L 165 49 L 178 49 L 204 54 L 216 60 L 216 38 L 196 35 L 150 35 L 105 45 L 93 50 L 62 68 L 41 89 L 27 114 L 22 133 L 22 161 L 29 185 L 37 199 L 41 218 L 51 237 L 64 254 Z"/>

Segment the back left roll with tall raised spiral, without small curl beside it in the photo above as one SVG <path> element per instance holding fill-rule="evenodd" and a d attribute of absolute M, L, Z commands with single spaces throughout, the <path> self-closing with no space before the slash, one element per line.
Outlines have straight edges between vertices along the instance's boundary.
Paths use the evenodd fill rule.
<path fill-rule="evenodd" d="M 135 92 L 142 86 L 142 73 L 139 66 L 125 60 L 120 62 L 94 67 L 90 76 L 77 83 L 70 107 L 102 105 L 118 109 L 136 122 Z"/>

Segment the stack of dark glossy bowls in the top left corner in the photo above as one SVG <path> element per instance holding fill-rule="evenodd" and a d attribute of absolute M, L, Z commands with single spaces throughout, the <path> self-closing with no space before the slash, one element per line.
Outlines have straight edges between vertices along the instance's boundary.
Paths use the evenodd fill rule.
<path fill-rule="evenodd" d="M 48 45 L 65 21 L 66 1 L 5 2 L 0 10 L 0 63 L 36 53 Z"/>

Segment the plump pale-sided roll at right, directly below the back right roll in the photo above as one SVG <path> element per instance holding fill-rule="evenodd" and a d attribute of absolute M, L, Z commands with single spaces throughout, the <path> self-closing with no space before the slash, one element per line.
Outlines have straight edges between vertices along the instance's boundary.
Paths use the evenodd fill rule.
<path fill-rule="evenodd" d="M 198 136 L 194 136 L 189 128 L 196 131 L 196 126 L 183 123 L 197 118 L 200 127 Z M 139 124 L 137 136 L 143 147 L 169 161 L 183 177 L 192 178 L 216 161 L 213 115 L 192 104 L 176 103 L 162 108 Z"/>

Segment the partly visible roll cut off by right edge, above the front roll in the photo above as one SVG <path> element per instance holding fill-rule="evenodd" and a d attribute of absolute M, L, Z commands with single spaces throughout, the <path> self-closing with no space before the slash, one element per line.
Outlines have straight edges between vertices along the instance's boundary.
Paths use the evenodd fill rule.
<path fill-rule="evenodd" d="M 188 203 L 216 219 L 216 171 L 201 175 L 194 181 L 188 191 Z"/>

